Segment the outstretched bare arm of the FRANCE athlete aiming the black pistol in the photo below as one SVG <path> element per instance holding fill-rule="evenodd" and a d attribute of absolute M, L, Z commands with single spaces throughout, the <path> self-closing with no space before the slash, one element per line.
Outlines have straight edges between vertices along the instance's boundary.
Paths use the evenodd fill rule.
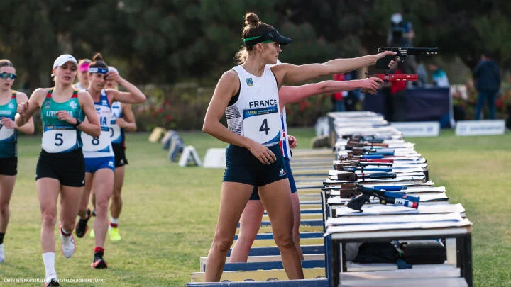
<path fill-rule="evenodd" d="M 323 64 L 304 64 L 297 66 L 294 64 L 278 64 L 271 69 L 277 77 L 278 83 L 282 86 L 286 84 L 298 84 L 302 81 L 315 79 L 317 77 L 327 76 L 329 74 L 341 74 L 351 72 L 356 69 L 368 67 L 376 64 L 378 59 L 386 55 L 395 55 L 395 52 L 385 51 L 376 55 L 368 55 L 351 59 L 335 59 Z M 391 61 L 389 67 L 394 67 L 395 62 Z"/>

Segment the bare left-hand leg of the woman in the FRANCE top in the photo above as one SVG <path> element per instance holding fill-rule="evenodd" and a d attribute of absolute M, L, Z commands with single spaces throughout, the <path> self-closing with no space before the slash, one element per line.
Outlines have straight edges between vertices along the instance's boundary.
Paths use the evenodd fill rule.
<path fill-rule="evenodd" d="M 236 227 L 250 198 L 253 186 L 238 182 L 225 182 L 221 188 L 219 218 L 206 262 L 206 282 L 220 281 L 227 252 L 231 248 Z"/>

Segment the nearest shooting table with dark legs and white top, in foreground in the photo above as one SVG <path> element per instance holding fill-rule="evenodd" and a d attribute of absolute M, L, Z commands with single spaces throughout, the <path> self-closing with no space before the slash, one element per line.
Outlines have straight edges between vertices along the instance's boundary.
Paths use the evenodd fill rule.
<path fill-rule="evenodd" d="M 458 225 L 458 226 L 456 226 Z M 459 226 L 461 225 L 461 226 Z M 406 226 L 406 225 L 405 225 Z M 357 276 L 358 272 L 347 272 L 346 253 L 344 244 L 348 242 L 390 242 L 392 240 L 424 240 L 436 238 L 456 238 L 456 267 L 459 268 L 459 276 L 462 278 L 455 278 L 449 274 L 447 277 L 438 278 L 442 274 L 436 274 L 432 277 L 424 276 L 420 281 L 415 276 L 409 276 L 408 281 L 406 278 L 392 278 L 385 276 L 372 276 L 380 280 L 364 281 L 365 284 L 370 283 L 372 286 L 472 286 L 472 240 L 471 240 L 471 223 L 468 220 L 463 220 L 461 223 L 449 224 L 444 223 L 443 227 L 417 229 L 417 227 L 403 227 L 403 229 L 383 229 L 383 230 L 370 230 L 360 231 L 353 229 L 349 225 L 327 227 L 326 236 L 327 245 L 329 246 L 330 254 L 327 254 L 330 260 L 329 270 L 329 285 L 330 286 L 345 286 L 341 282 L 341 276 L 350 284 L 346 286 L 359 286 L 350 280 Z M 343 248 L 341 248 L 343 244 Z M 341 249 L 343 256 L 341 259 Z M 341 271 L 343 274 L 341 275 Z M 404 273 L 407 271 L 404 271 Z M 412 270 L 412 274 L 417 274 L 417 271 Z M 367 276 L 368 272 L 360 274 L 361 278 L 371 278 Z M 436 278 L 433 278 L 436 277 Z M 464 278 L 464 280 L 463 280 Z M 408 283 L 406 283 L 408 282 Z M 402 285 L 404 283 L 405 285 Z M 390 285 L 389 285 L 390 284 Z M 406 285 L 410 284 L 410 285 Z M 419 284 L 419 285 L 418 285 Z M 468 284 L 468 285 L 467 285 Z M 364 285 L 366 286 L 366 285 Z"/>

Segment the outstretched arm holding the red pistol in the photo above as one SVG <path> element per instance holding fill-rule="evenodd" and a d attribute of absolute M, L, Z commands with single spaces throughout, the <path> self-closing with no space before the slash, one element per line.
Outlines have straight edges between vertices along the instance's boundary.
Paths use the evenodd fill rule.
<path fill-rule="evenodd" d="M 315 84 L 306 84 L 303 86 L 282 86 L 279 90 L 280 110 L 287 103 L 297 103 L 307 99 L 309 96 L 319 94 L 338 93 L 341 91 L 351 91 L 354 89 L 378 89 L 382 79 L 367 78 L 352 81 L 321 81 Z"/>

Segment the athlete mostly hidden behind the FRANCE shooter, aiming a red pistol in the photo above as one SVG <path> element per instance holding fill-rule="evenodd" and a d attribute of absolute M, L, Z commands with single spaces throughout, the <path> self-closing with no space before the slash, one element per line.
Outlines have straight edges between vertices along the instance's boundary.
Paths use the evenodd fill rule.
<path fill-rule="evenodd" d="M 300 248 L 300 198 L 298 197 L 295 179 L 292 176 L 292 170 L 290 167 L 292 157 L 290 148 L 297 145 L 297 140 L 295 137 L 287 133 L 285 105 L 287 103 L 297 103 L 307 99 L 309 96 L 318 94 L 351 91 L 353 89 L 378 89 L 379 83 L 382 82 L 383 80 L 379 78 L 368 78 L 353 81 L 322 81 L 303 86 L 282 86 L 278 91 L 280 111 L 282 111 L 282 141 L 280 142 L 280 148 L 284 156 L 285 171 L 287 173 L 287 179 L 290 181 L 292 194 L 291 197 L 294 215 L 293 240 L 295 241 L 297 252 L 302 260 L 304 259 L 304 256 L 302 249 Z M 250 252 L 253 241 L 258 234 L 264 210 L 265 208 L 260 202 L 257 188 L 254 188 L 251 198 L 241 214 L 240 232 L 238 234 L 238 240 L 236 240 L 236 244 L 234 244 L 231 252 L 231 262 L 247 261 L 248 252 Z"/>

